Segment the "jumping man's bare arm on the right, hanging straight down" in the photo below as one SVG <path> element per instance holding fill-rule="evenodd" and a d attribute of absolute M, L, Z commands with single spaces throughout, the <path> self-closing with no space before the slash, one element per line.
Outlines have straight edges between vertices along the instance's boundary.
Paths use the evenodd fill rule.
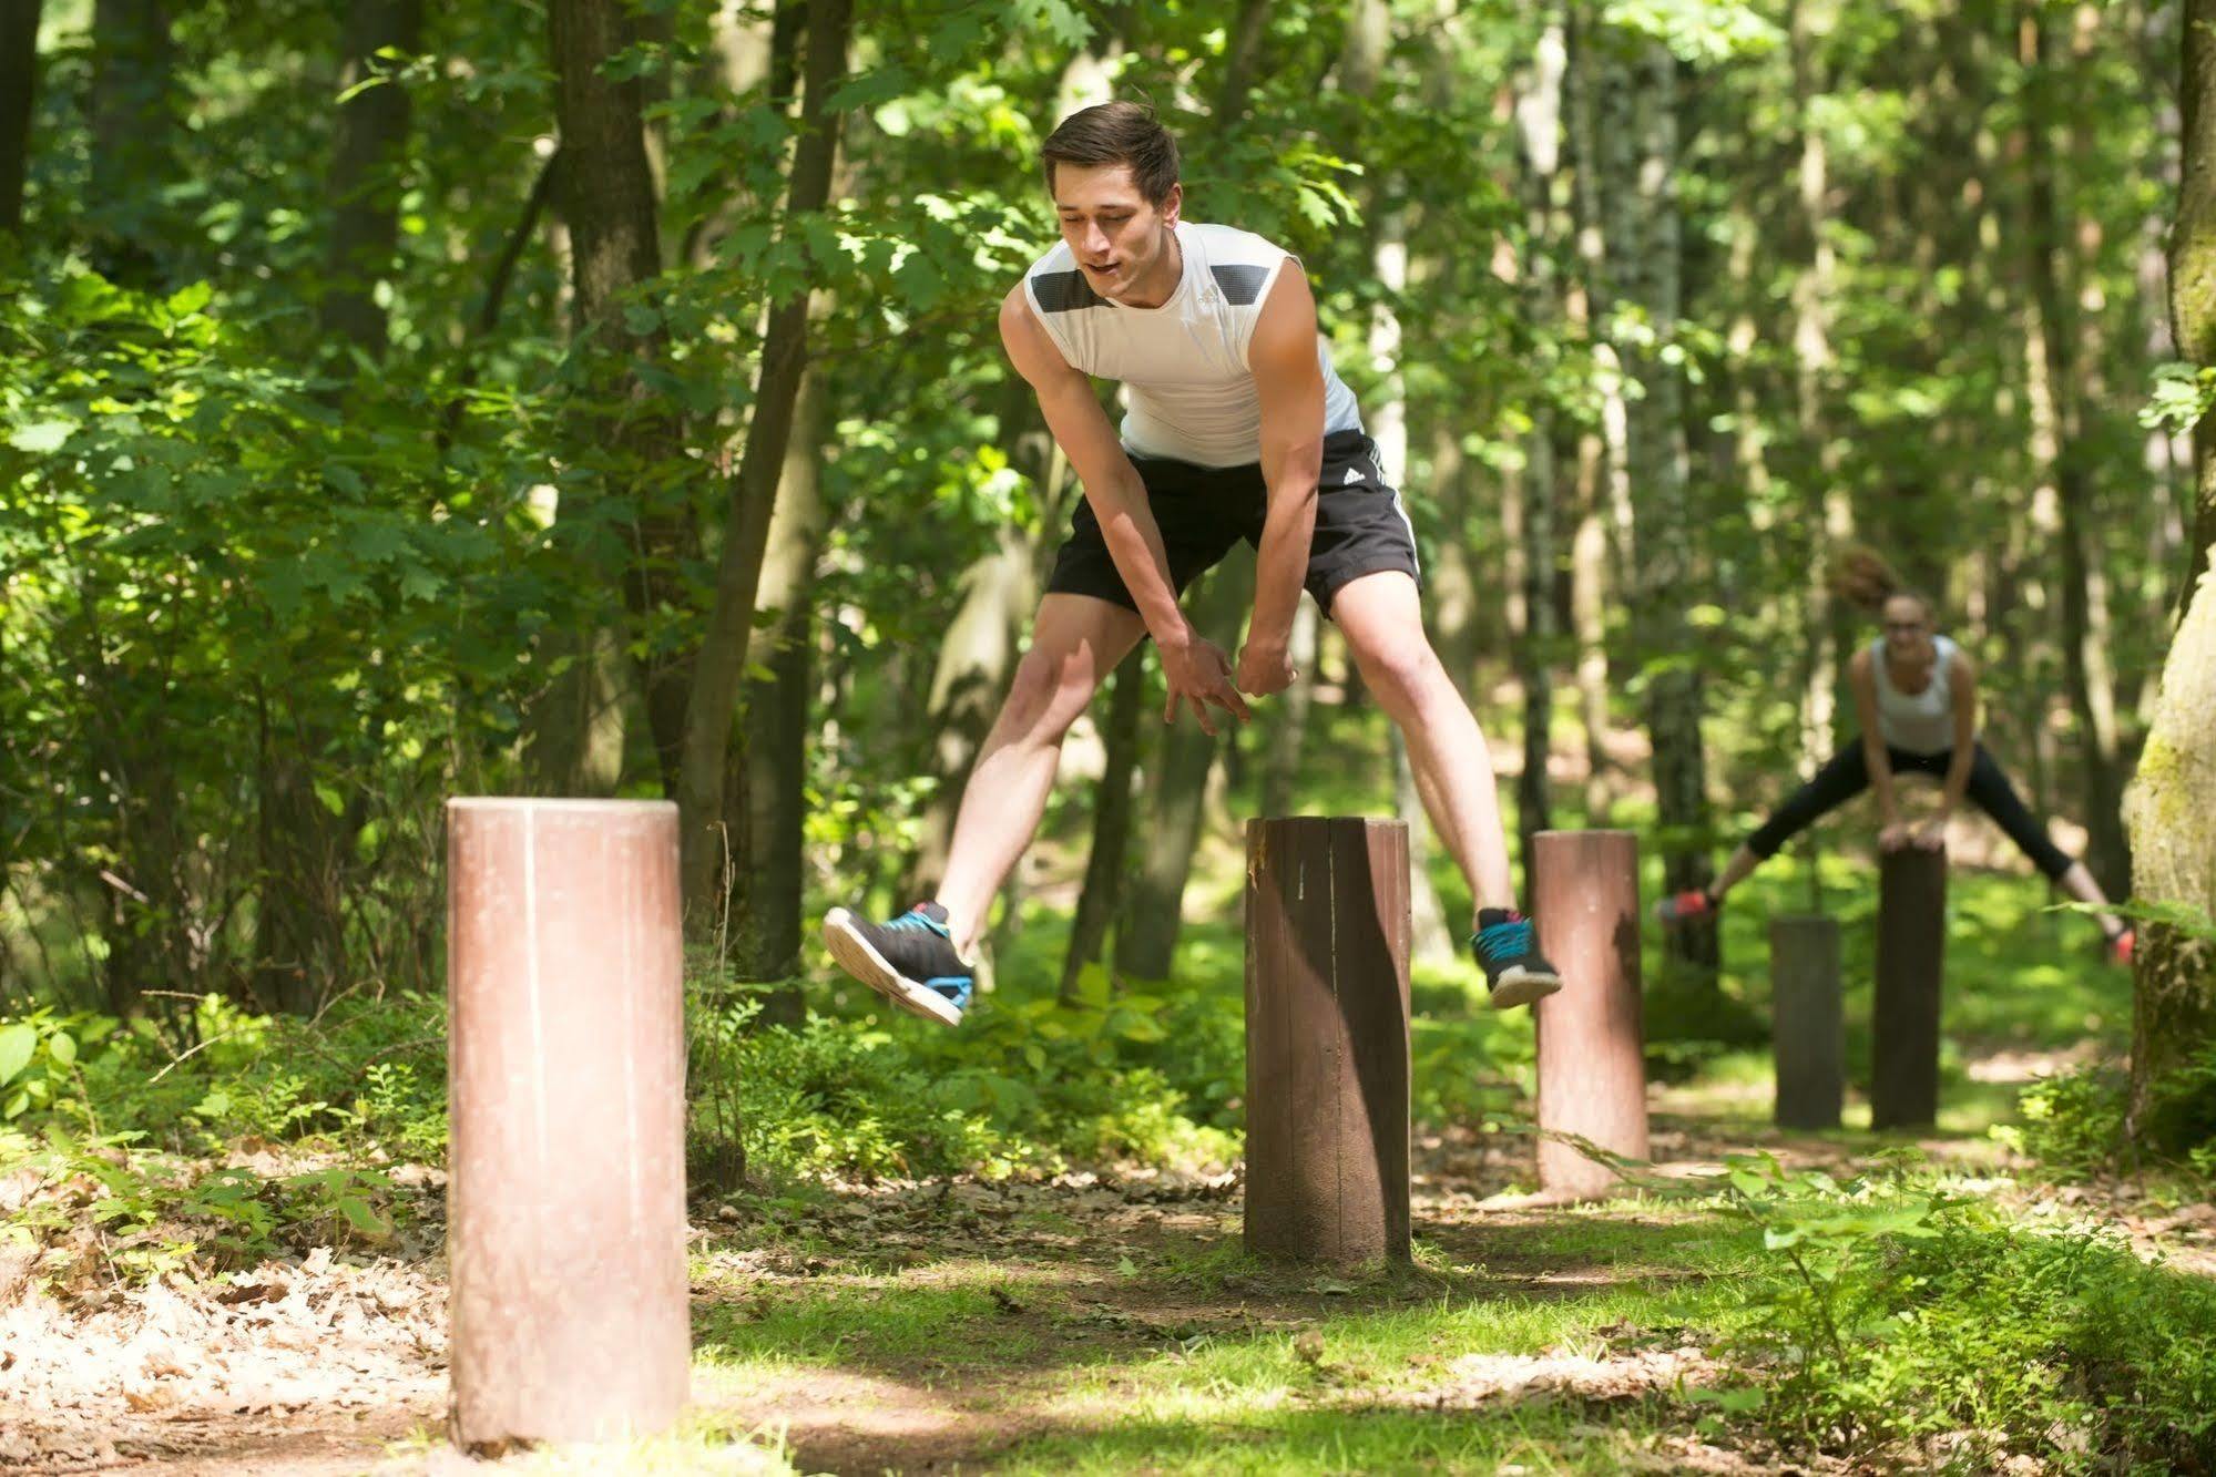
<path fill-rule="evenodd" d="M 1274 693 L 1292 682 L 1285 647 L 1307 578 L 1316 534 L 1316 478 L 1323 474 L 1323 368 L 1316 363 L 1316 299 L 1299 259 L 1270 283 L 1248 368 L 1261 396 L 1261 474 L 1270 507 L 1254 565 L 1254 620 L 1239 651 L 1239 686 Z"/>

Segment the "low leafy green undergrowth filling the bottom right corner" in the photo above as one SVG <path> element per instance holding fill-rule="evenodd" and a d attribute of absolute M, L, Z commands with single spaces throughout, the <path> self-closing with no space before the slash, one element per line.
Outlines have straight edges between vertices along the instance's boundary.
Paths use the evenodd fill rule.
<path fill-rule="evenodd" d="M 1731 1342 L 1722 1395 L 1788 1442 L 1948 1470 L 2216 1464 L 2216 1289 L 2110 1233 L 2019 1229 L 1906 1160 L 1853 1180 L 1733 1158 L 1728 1205 L 1788 1278 Z"/>

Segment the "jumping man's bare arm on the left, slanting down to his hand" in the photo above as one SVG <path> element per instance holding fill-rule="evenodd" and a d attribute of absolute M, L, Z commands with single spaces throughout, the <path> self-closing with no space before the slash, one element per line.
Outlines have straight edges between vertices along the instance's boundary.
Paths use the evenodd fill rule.
<path fill-rule="evenodd" d="M 1101 403 L 1092 396 L 1092 383 L 1061 357 L 1055 341 L 1030 312 L 1022 283 L 1008 292 L 999 306 L 999 339 L 1039 396 L 1039 412 L 1046 430 L 1053 432 L 1061 454 L 1070 458 L 1077 483 L 1086 489 L 1092 516 L 1101 523 L 1108 540 L 1108 556 L 1115 560 L 1124 587 L 1139 605 L 1155 647 L 1161 651 L 1163 678 L 1170 684 L 1170 706 L 1166 720 L 1177 715 L 1179 702 L 1190 702 L 1201 729 L 1214 733 L 1206 704 L 1234 713 L 1245 722 L 1245 702 L 1230 682 L 1230 660 L 1186 620 L 1177 605 L 1177 585 L 1170 580 L 1170 556 L 1161 543 L 1161 527 L 1146 500 L 1146 483 L 1139 469 L 1124 454 L 1115 427 L 1108 425 Z"/>

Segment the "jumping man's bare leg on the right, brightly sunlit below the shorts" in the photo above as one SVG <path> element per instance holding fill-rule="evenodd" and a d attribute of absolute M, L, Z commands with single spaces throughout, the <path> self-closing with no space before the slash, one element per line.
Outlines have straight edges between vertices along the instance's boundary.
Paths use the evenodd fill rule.
<path fill-rule="evenodd" d="M 1378 706 L 1407 737 L 1416 793 L 1432 815 L 1432 830 L 1469 879 L 1476 908 L 1514 908 L 1516 881 L 1500 830 L 1494 757 L 1423 631 L 1416 580 L 1396 569 L 1365 574 L 1332 598 L 1332 620 Z"/>

